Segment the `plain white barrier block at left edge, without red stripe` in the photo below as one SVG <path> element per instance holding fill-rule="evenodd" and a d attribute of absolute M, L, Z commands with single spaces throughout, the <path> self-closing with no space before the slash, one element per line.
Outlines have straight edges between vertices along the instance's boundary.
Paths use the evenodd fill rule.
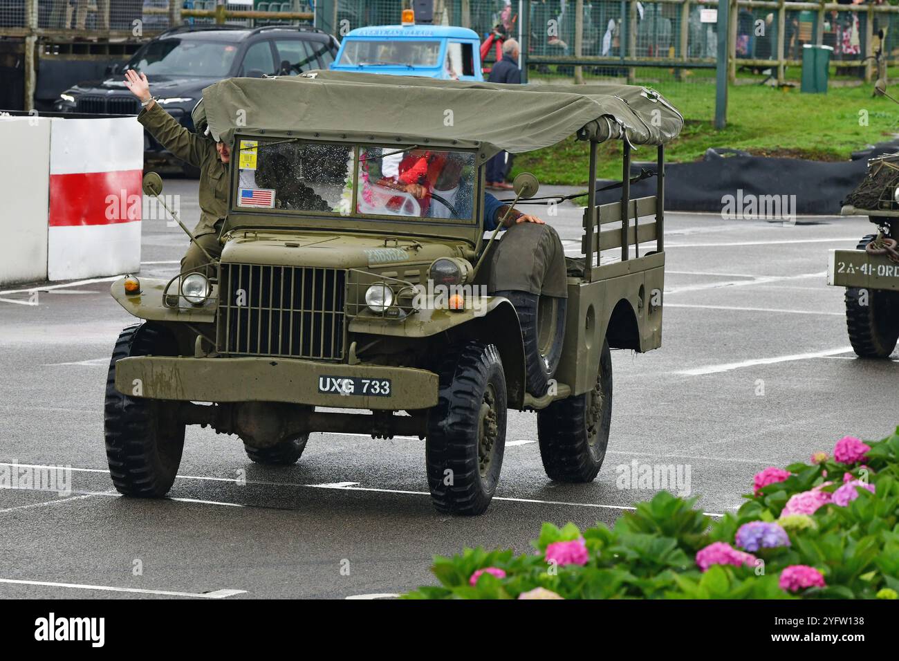
<path fill-rule="evenodd" d="M 0 118 L 0 284 L 47 279 L 51 123 Z"/>

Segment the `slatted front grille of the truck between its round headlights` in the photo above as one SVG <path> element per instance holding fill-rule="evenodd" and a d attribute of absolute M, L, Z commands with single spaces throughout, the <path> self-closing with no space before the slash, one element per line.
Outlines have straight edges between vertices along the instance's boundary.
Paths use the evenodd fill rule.
<path fill-rule="evenodd" d="M 218 353 L 341 360 L 346 272 L 221 264 Z"/>

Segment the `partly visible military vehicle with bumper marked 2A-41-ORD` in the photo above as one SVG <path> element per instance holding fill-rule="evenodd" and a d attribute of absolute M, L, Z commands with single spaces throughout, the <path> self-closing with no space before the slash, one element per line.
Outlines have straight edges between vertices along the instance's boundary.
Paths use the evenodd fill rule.
<path fill-rule="evenodd" d="M 855 250 L 832 250 L 827 283 L 846 288 L 846 327 L 861 358 L 887 358 L 899 339 L 899 154 L 868 162 L 841 214 L 868 216 L 876 234 Z"/>

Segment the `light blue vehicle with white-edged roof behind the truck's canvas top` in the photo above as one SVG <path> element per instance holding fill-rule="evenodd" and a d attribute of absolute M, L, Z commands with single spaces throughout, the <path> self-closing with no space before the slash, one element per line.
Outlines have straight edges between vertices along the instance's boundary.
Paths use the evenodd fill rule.
<path fill-rule="evenodd" d="M 484 80 L 474 30 L 447 25 L 375 25 L 343 37 L 334 71 Z"/>

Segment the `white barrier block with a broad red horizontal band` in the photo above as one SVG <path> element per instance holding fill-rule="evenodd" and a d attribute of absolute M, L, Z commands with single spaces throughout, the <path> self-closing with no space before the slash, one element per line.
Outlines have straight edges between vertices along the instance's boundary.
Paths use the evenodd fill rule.
<path fill-rule="evenodd" d="M 53 121 L 49 280 L 139 270 L 143 159 L 144 131 L 132 117 Z"/>

